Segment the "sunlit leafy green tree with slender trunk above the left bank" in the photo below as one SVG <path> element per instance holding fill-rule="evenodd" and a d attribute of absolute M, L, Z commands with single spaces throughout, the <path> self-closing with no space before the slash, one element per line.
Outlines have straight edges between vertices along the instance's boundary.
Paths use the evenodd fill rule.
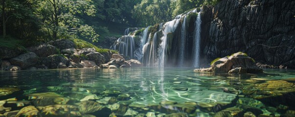
<path fill-rule="evenodd" d="M 98 35 L 82 18 L 83 15 L 95 16 L 92 0 L 44 0 L 39 4 L 37 14 L 44 20 L 43 31 L 53 39 L 82 36 L 80 38 L 97 41 Z"/>

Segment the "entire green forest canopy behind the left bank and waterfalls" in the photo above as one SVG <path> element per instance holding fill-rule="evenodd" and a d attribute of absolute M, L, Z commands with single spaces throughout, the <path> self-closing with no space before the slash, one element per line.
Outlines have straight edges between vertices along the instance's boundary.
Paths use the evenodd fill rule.
<path fill-rule="evenodd" d="M 97 42 L 127 27 L 172 20 L 218 0 L 1 0 L 1 37 L 30 41 L 85 39 Z"/>

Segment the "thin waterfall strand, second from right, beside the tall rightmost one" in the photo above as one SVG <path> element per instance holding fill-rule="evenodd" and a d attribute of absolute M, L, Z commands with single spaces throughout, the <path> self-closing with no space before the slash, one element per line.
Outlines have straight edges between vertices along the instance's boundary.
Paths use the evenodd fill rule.
<path fill-rule="evenodd" d="M 183 67 L 183 61 L 184 61 L 184 48 L 185 48 L 185 39 L 186 39 L 186 16 L 183 19 L 182 23 L 182 32 L 181 32 L 181 40 L 180 40 L 180 58 L 179 58 L 179 67 Z"/>

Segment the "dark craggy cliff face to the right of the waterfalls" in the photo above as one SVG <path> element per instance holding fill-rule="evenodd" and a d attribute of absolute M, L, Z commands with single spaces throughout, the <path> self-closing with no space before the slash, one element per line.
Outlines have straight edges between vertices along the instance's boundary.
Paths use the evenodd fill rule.
<path fill-rule="evenodd" d="M 242 51 L 258 62 L 295 68 L 294 16 L 294 0 L 221 0 L 204 8 L 201 52 L 215 59 Z"/>

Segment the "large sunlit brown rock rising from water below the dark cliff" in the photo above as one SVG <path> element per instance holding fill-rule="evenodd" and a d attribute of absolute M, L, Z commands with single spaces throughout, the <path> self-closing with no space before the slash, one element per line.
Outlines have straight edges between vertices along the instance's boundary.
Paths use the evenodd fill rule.
<path fill-rule="evenodd" d="M 230 57 L 218 59 L 213 62 L 210 68 L 195 69 L 195 72 L 213 72 L 213 73 L 261 73 L 263 70 L 254 63 L 253 59 L 244 53 L 235 53 Z"/>

